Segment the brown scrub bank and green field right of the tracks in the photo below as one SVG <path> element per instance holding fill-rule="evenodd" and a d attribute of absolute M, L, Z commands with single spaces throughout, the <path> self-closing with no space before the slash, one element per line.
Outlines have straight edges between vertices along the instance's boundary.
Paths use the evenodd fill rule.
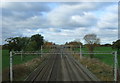
<path fill-rule="evenodd" d="M 80 51 L 79 48 L 74 49 L 75 51 Z M 86 48 L 81 49 L 83 52 L 88 51 Z M 111 47 L 96 47 L 94 51 L 100 52 L 113 52 L 116 51 Z M 120 68 L 120 54 L 118 56 L 118 65 Z M 79 60 L 79 55 L 74 55 L 74 57 Z M 92 73 L 94 73 L 102 81 L 113 81 L 114 73 L 114 55 L 112 54 L 95 54 L 94 58 L 90 58 L 89 55 L 83 55 L 80 62 L 85 65 Z"/>

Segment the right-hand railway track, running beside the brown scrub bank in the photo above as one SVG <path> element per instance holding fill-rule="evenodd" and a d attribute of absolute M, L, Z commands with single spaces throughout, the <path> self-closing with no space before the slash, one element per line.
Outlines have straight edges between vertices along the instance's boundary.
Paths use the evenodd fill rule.
<path fill-rule="evenodd" d="M 68 69 L 72 72 L 70 76 L 72 76 L 73 81 L 98 81 L 96 76 L 77 62 L 73 56 L 65 55 L 65 58 L 67 59 L 65 60 L 66 66 L 68 66 Z"/>

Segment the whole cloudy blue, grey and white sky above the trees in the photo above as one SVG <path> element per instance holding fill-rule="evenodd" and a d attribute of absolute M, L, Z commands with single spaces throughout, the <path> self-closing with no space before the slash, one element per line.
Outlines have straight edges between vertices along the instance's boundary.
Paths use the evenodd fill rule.
<path fill-rule="evenodd" d="M 95 33 L 101 43 L 118 39 L 117 2 L 9 2 L 2 3 L 2 42 L 9 37 L 41 34 L 64 44 Z M 1 14 L 1 13 L 0 13 Z"/>

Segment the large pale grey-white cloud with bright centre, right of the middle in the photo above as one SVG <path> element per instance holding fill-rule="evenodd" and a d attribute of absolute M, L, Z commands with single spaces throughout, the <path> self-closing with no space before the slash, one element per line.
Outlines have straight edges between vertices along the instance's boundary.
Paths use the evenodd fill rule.
<path fill-rule="evenodd" d="M 63 6 L 48 13 L 48 20 L 51 26 L 59 26 L 62 28 L 87 27 L 93 26 L 97 22 L 97 18 L 94 15 L 88 12 L 83 13 L 84 11 L 79 9 L 79 6 L 74 8 L 70 6 L 65 7 L 66 9 Z"/>

